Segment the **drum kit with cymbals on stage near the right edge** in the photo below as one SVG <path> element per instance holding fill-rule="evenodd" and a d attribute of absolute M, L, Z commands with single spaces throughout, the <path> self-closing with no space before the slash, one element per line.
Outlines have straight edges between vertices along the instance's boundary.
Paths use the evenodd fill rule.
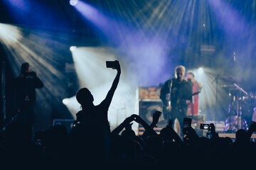
<path fill-rule="evenodd" d="M 225 77 L 226 78 L 226 77 Z M 228 79 L 230 80 L 230 79 Z M 233 81 L 230 80 L 230 81 Z M 250 112 L 252 118 L 252 108 L 255 104 L 256 96 L 250 92 L 249 94 L 242 89 L 238 84 L 221 85 L 223 88 L 228 88 L 230 102 L 228 104 L 228 118 L 225 120 L 225 128 L 223 132 L 236 132 L 240 129 L 248 130 L 247 120 L 245 115 Z M 255 108 L 256 114 L 256 108 Z"/>

